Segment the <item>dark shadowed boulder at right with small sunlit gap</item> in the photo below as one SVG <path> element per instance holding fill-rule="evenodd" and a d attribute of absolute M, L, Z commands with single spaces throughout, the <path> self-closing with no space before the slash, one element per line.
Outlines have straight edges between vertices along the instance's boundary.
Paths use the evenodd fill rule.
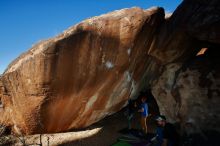
<path fill-rule="evenodd" d="M 163 64 L 151 84 L 161 114 L 192 132 L 220 131 L 219 10 L 218 0 L 184 0 L 149 52 Z"/>

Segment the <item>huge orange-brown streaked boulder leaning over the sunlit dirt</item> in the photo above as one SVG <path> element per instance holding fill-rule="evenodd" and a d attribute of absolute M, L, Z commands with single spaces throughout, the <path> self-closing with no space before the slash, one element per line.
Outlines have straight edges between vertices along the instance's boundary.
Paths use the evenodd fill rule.
<path fill-rule="evenodd" d="M 15 133 L 60 132 L 119 111 L 143 88 L 146 48 L 162 21 L 162 8 L 123 9 L 35 45 L 0 79 L 0 122 Z"/>

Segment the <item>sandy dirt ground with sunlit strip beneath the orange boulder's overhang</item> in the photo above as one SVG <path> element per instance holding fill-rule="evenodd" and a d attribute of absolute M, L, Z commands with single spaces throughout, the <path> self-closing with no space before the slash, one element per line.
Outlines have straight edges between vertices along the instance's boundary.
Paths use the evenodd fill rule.
<path fill-rule="evenodd" d="M 138 117 L 134 122 L 134 128 L 139 128 Z M 152 124 L 151 124 L 152 125 Z M 152 127 L 152 126 L 151 126 Z M 152 128 L 149 131 L 152 131 Z M 121 136 L 120 130 L 127 128 L 125 109 L 108 116 L 92 126 L 65 133 L 36 134 L 25 137 L 16 137 L 15 146 L 32 145 L 37 146 L 110 146 Z"/>

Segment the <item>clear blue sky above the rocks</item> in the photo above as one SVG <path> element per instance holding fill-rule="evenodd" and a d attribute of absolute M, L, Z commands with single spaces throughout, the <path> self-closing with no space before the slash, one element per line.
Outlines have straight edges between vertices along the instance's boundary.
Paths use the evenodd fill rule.
<path fill-rule="evenodd" d="M 0 74 L 40 40 L 92 16 L 134 6 L 172 12 L 182 0 L 0 0 Z"/>

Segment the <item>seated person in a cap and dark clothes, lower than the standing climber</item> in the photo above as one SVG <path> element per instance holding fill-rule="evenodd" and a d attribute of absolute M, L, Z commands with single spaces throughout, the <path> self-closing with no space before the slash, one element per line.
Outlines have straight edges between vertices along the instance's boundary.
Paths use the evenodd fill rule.
<path fill-rule="evenodd" d="M 166 121 L 165 116 L 158 116 L 157 121 L 157 146 L 178 146 L 179 136 L 173 124 Z"/>

